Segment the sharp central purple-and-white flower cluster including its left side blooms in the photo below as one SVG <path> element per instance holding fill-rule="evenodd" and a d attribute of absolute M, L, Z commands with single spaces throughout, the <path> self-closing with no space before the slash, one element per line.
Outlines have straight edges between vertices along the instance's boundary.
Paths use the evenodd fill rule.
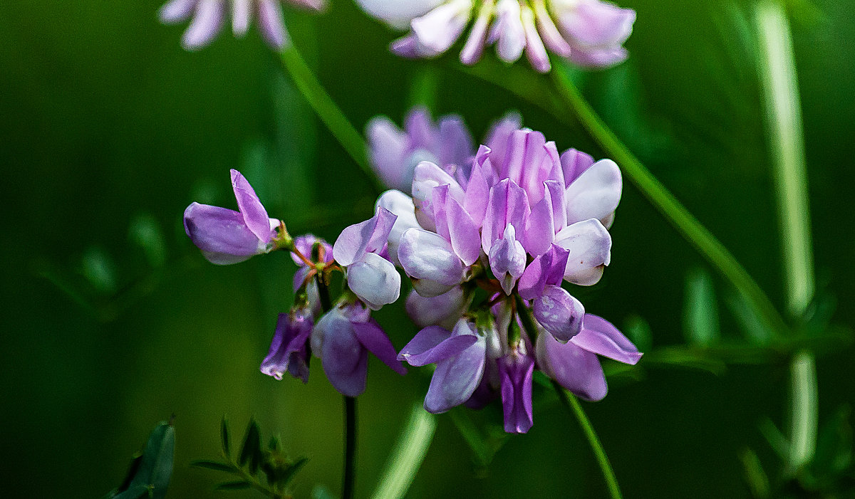
<path fill-rule="evenodd" d="M 357 396 L 369 352 L 401 374 L 400 361 L 436 364 L 428 411 L 480 408 L 500 397 L 510 432 L 532 426 L 535 369 L 586 400 L 605 396 L 597 355 L 634 364 L 641 354 L 562 284 L 594 285 L 609 264 L 620 170 L 578 150 L 559 154 L 543 134 L 520 128 L 516 115 L 499 120 L 485 142 L 473 150 L 462 120 L 434 124 L 423 109 L 410 113 L 405 132 L 373 120 L 374 167 L 392 185 L 409 183 L 411 196 L 384 192 L 374 216 L 346 227 L 332 246 L 292 238 L 235 170 L 239 211 L 186 209 L 187 235 L 209 261 L 289 250 L 299 267 L 295 304 L 279 316 L 262 373 L 307 382 L 314 355 L 336 390 Z M 398 300 L 396 267 L 410 280 L 406 309 L 422 328 L 400 353 L 371 318 Z M 346 276 L 335 302 L 333 272 Z"/>

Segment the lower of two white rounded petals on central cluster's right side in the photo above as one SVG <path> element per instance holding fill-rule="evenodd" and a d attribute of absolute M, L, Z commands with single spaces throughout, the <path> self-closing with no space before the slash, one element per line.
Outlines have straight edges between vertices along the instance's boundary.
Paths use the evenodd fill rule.
<path fill-rule="evenodd" d="M 569 250 L 564 279 L 575 285 L 597 284 L 611 256 L 611 236 L 599 220 L 564 227 L 555 235 L 555 244 Z"/>

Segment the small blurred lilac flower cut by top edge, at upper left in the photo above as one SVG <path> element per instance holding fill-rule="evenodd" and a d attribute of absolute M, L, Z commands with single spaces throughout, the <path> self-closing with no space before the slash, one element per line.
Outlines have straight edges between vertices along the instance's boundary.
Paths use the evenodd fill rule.
<path fill-rule="evenodd" d="M 321 10 L 326 0 L 287 0 L 305 9 Z M 186 50 L 199 50 L 211 43 L 228 15 L 232 17 L 234 36 L 243 37 L 253 17 L 264 41 L 281 50 L 288 41 L 280 0 L 170 0 L 158 13 L 164 24 L 176 24 L 192 17 L 181 44 Z"/>

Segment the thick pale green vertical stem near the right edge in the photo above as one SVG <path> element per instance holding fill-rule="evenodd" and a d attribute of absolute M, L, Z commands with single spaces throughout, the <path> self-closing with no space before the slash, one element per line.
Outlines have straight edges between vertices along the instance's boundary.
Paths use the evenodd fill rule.
<path fill-rule="evenodd" d="M 816 288 L 793 40 L 781 3 L 761 0 L 754 11 L 754 20 L 761 53 L 758 69 L 764 93 L 765 125 L 778 200 L 787 313 L 793 319 L 800 319 Z M 791 442 L 787 472 L 795 474 L 813 459 L 817 446 L 817 368 L 810 350 L 793 355 L 790 373 Z"/>

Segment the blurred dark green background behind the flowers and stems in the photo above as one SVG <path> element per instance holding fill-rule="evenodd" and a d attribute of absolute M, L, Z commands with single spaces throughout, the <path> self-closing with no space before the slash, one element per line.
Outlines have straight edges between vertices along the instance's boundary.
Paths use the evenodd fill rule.
<path fill-rule="evenodd" d="M 584 90 L 646 165 L 781 304 L 780 241 L 761 122 L 756 53 L 740 6 L 724 0 L 624 0 L 638 12 L 629 61 L 591 73 Z M 793 21 L 804 106 L 820 295 L 833 322 L 855 325 L 855 3 L 817 0 Z M 215 458 L 219 421 L 240 435 L 251 414 L 310 457 L 298 497 L 339 490 L 340 397 L 319 367 L 309 385 L 263 376 L 276 313 L 291 303 L 287 255 L 231 267 L 203 261 L 181 214 L 199 201 L 233 207 L 228 169 L 257 187 L 294 233 L 332 241 L 370 216 L 374 192 L 283 77 L 256 32 L 223 32 L 199 53 L 184 26 L 161 26 L 157 0 L 3 1 L 0 9 L 0 231 L 3 437 L 8 497 L 99 497 L 159 420 L 176 414 L 170 497 L 212 491 L 225 477 L 189 466 Z M 413 82 L 435 79 L 434 115 L 459 113 L 476 138 L 518 109 L 559 150 L 601 157 L 578 127 L 465 75 L 453 56 L 431 64 L 388 53 L 392 33 L 350 0 L 326 15 L 288 12 L 296 44 L 360 129 L 375 114 L 400 122 Z M 705 264 L 627 184 L 603 281 L 578 290 L 618 325 L 641 317 L 652 349 L 686 342 L 685 277 Z M 745 341 L 713 279 L 722 337 Z M 400 304 L 378 314 L 400 348 L 415 332 Z M 855 400 L 855 350 L 817 361 L 821 424 Z M 627 497 L 748 496 L 740 453 L 770 474 L 780 461 L 758 423 L 786 427 L 787 364 L 646 367 L 585 404 Z M 357 496 L 368 496 L 426 373 L 404 378 L 372 359 L 359 399 Z M 496 416 L 498 417 L 498 415 Z M 498 421 L 497 421 L 498 422 Z M 412 497 L 604 496 L 575 420 L 554 401 L 489 467 L 447 416 Z"/>

